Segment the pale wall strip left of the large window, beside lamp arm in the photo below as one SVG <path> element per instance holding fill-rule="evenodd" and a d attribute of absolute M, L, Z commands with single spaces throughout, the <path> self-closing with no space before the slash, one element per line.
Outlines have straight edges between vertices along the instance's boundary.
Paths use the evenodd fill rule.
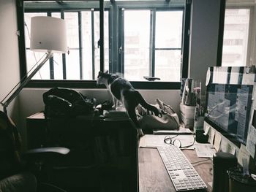
<path fill-rule="evenodd" d="M 15 0 L 0 0 L 0 101 L 20 80 Z M 2 110 L 2 107 L 0 107 Z M 8 107 L 8 114 L 18 121 L 18 101 Z"/>

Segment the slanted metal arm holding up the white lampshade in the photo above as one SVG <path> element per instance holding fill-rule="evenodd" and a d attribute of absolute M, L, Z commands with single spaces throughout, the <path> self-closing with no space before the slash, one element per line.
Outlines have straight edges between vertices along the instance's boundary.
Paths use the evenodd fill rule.
<path fill-rule="evenodd" d="M 20 82 L 20 85 L 13 93 L 12 93 L 12 91 L 10 91 L 10 93 L 12 93 L 12 95 L 6 101 L 4 101 L 4 100 L 7 98 L 7 96 L 10 95 L 10 93 L 8 93 L 7 96 L 4 97 L 4 99 L 1 101 L 1 105 L 4 108 L 5 113 L 7 113 L 7 107 L 10 104 L 10 102 L 13 99 L 15 99 L 16 96 L 18 96 L 18 93 L 20 93 L 20 91 L 26 86 L 26 84 L 31 80 L 31 78 L 34 77 L 34 74 L 36 74 L 39 71 L 39 69 L 41 69 L 41 67 L 46 63 L 46 61 L 48 61 L 48 59 L 51 58 L 52 56 L 53 56 L 52 52 L 46 53 L 44 60 L 37 66 L 37 68 L 34 69 L 34 71 L 31 72 L 31 74 L 29 74 L 29 76 L 26 77 L 25 80 L 23 80 L 23 82 Z"/>

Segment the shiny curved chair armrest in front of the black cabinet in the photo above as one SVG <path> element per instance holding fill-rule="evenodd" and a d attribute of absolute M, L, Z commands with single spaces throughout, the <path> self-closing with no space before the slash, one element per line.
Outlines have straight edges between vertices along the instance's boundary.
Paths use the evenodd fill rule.
<path fill-rule="evenodd" d="M 61 155 L 67 155 L 69 151 L 70 150 L 66 147 L 42 147 L 27 150 L 26 153 L 23 154 L 23 158 L 58 157 Z"/>

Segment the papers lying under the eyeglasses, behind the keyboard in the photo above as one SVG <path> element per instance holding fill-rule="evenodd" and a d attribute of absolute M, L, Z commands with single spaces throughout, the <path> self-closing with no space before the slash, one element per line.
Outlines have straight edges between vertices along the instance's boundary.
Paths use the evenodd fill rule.
<path fill-rule="evenodd" d="M 154 135 L 154 134 L 146 134 L 143 137 L 140 137 L 140 144 L 139 147 L 161 147 L 161 146 L 166 146 L 168 144 L 166 144 L 164 142 L 166 135 Z M 175 136 L 174 135 L 170 135 L 170 137 Z M 173 139 L 178 139 L 181 142 L 182 146 L 187 146 L 187 145 L 192 145 L 192 143 L 194 142 L 194 136 L 192 134 L 181 134 L 178 135 L 177 137 L 173 138 Z M 191 147 L 187 147 L 186 149 L 192 149 L 194 150 L 195 147 L 191 146 Z"/>

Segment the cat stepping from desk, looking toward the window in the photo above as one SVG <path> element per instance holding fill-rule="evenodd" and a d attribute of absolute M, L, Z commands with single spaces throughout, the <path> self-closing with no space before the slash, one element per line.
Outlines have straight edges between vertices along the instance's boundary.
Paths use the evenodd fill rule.
<path fill-rule="evenodd" d="M 140 128 L 140 123 L 138 122 L 137 115 L 135 112 L 136 107 L 140 104 L 142 107 L 146 108 L 154 113 L 154 115 L 161 115 L 157 107 L 143 99 L 143 96 L 132 87 L 132 84 L 117 74 L 109 74 L 108 72 L 99 72 L 97 77 L 97 85 L 104 84 L 110 91 L 113 97 L 113 109 L 116 109 L 118 101 L 124 105 L 127 110 L 129 118 L 135 123 L 136 128 L 138 128 L 139 136 L 143 136 L 143 131 Z"/>

